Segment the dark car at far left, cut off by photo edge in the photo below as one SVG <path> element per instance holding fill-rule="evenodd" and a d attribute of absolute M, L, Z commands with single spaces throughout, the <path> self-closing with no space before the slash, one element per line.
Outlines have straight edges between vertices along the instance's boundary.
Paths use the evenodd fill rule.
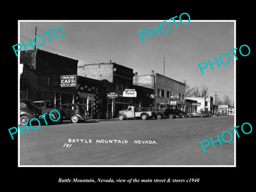
<path fill-rule="evenodd" d="M 42 110 L 32 101 L 20 99 L 20 125 L 28 125 L 33 118 L 41 120 L 40 115 L 42 115 Z"/>

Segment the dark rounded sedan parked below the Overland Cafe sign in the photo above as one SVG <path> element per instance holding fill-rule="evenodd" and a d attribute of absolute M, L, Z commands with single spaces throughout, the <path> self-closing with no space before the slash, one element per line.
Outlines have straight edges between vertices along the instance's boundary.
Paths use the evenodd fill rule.
<path fill-rule="evenodd" d="M 68 103 L 60 105 L 60 115 L 63 120 L 70 119 L 72 123 L 91 119 L 90 113 L 84 105 L 78 103 Z"/>

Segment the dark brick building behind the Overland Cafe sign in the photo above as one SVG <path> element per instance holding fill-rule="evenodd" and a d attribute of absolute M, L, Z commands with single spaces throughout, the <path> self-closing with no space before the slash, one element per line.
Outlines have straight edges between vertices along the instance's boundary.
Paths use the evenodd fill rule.
<path fill-rule="evenodd" d="M 60 87 L 60 76 L 76 75 L 78 60 L 36 49 L 20 51 L 20 63 L 20 99 L 51 100 L 56 107 L 75 102 L 76 87 Z"/>

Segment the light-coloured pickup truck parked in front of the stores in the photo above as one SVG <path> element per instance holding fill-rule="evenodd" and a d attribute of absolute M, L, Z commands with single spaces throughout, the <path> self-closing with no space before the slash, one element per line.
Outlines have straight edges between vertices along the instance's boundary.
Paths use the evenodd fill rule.
<path fill-rule="evenodd" d="M 151 117 L 155 117 L 155 113 L 148 107 L 136 108 L 134 106 L 129 106 L 127 110 L 121 110 L 118 112 L 119 120 L 128 119 L 128 118 L 141 118 L 145 120 Z"/>

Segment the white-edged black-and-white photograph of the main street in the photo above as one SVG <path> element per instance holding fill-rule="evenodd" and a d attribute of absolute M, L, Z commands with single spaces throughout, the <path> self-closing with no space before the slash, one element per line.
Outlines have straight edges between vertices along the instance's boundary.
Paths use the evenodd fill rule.
<path fill-rule="evenodd" d="M 180 14 L 20 20 L 19 166 L 235 166 L 250 47 L 235 20 Z"/>

